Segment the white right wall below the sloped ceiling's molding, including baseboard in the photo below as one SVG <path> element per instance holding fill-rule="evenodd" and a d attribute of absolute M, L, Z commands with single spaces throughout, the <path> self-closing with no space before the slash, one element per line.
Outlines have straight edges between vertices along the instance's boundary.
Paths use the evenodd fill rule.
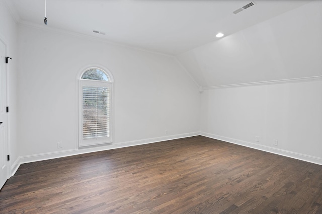
<path fill-rule="evenodd" d="M 322 78 L 209 89 L 201 134 L 322 164 L 321 109 Z"/>

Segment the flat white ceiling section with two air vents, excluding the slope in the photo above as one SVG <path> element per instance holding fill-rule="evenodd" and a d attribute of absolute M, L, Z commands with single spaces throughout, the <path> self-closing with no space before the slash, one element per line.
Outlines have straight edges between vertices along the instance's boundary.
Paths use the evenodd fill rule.
<path fill-rule="evenodd" d="M 300 7 L 310 0 L 6 0 L 19 23 L 60 29 L 178 55 Z M 101 31 L 106 35 L 93 33 Z"/>

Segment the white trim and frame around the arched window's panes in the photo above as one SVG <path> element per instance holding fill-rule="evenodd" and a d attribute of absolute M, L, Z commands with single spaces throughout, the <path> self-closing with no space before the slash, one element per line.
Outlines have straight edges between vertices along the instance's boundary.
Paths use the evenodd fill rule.
<path fill-rule="evenodd" d="M 99 69 L 101 71 L 103 71 L 107 78 L 108 81 L 101 81 L 101 80 L 90 80 L 90 79 L 82 79 L 83 74 L 90 70 L 90 69 Z M 77 75 L 77 91 L 78 91 L 78 101 L 77 101 L 77 142 L 76 142 L 76 148 L 83 148 L 83 147 L 89 147 L 89 146 L 97 146 L 97 145 L 102 145 L 102 144 L 111 144 L 113 143 L 113 136 L 114 136 L 114 102 L 113 102 L 113 97 L 114 97 L 114 90 L 113 90 L 113 84 L 114 83 L 114 78 L 112 73 L 105 68 L 104 66 L 101 65 L 90 65 L 90 66 L 86 66 L 84 67 Z M 83 128 L 83 119 L 82 119 L 82 111 L 83 111 L 83 86 L 84 85 L 93 85 L 93 86 L 97 86 L 97 85 L 106 85 L 110 88 L 111 93 L 110 93 L 110 137 L 108 141 L 99 141 L 97 143 L 89 143 L 89 144 L 84 144 L 82 143 L 82 139 L 83 139 L 83 132 L 81 130 L 81 128 Z"/>

